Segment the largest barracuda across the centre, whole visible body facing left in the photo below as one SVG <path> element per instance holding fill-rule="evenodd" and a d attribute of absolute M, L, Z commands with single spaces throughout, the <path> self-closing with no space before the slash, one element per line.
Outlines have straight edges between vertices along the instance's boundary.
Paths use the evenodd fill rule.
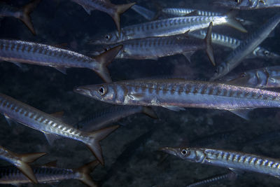
<path fill-rule="evenodd" d="M 144 79 L 84 85 L 74 89 L 102 102 L 123 105 L 223 109 L 242 118 L 250 109 L 280 107 L 280 93 L 225 83 L 184 79 Z"/>

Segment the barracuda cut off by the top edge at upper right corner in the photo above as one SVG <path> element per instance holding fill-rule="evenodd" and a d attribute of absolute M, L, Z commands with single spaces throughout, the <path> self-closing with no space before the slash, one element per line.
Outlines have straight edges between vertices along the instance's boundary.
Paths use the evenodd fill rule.
<path fill-rule="evenodd" d="M 239 10 L 253 10 L 260 8 L 275 8 L 280 7 L 279 0 L 241 0 L 239 2 L 235 0 L 218 0 L 214 2 L 219 6 L 227 6 L 229 8 Z"/>

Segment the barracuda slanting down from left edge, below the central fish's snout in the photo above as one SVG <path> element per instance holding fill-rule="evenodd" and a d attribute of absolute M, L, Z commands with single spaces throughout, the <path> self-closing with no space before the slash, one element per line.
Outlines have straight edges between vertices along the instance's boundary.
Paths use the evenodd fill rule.
<path fill-rule="evenodd" d="M 92 151 L 102 165 L 104 162 L 99 141 L 118 128 L 118 125 L 116 125 L 94 132 L 83 132 L 71 127 L 48 113 L 39 111 L 32 106 L 1 93 L 0 113 L 3 113 L 3 115 L 10 120 L 15 120 L 22 125 L 43 132 L 50 144 L 59 137 L 82 141 L 88 148 L 90 148 L 90 151 Z"/>

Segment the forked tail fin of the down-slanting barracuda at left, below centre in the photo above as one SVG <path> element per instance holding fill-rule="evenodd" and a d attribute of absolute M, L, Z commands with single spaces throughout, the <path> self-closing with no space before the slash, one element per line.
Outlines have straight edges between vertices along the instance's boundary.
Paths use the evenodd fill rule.
<path fill-rule="evenodd" d="M 119 127 L 119 125 L 115 125 L 115 126 L 112 126 L 112 127 L 106 127 L 102 130 L 94 131 L 94 132 L 89 134 L 89 137 L 92 139 L 92 141 L 90 143 L 85 142 L 85 144 L 87 144 L 88 148 L 90 148 L 90 151 L 92 151 L 92 153 L 95 155 L 97 160 L 102 165 L 104 165 L 104 162 L 103 162 L 103 158 L 102 158 L 102 150 L 101 150 L 101 146 L 99 144 L 99 141 L 106 138 L 109 134 L 111 134 L 111 132 L 116 130 L 118 127 Z"/>

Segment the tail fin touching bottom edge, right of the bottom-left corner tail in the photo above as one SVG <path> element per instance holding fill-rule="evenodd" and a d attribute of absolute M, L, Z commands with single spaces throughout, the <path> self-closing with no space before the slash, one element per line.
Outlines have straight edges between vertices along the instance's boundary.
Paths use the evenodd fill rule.
<path fill-rule="evenodd" d="M 79 167 L 76 170 L 76 172 L 79 173 L 79 180 L 85 183 L 87 186 L 90 187 L 97 187 L 97 184 L 92 181 L 92 177 L 90 177 L 90 172 L 99 165 L 98 160 L 94 160 L 92 162 L 89 162 L 82 167 Z"/>

